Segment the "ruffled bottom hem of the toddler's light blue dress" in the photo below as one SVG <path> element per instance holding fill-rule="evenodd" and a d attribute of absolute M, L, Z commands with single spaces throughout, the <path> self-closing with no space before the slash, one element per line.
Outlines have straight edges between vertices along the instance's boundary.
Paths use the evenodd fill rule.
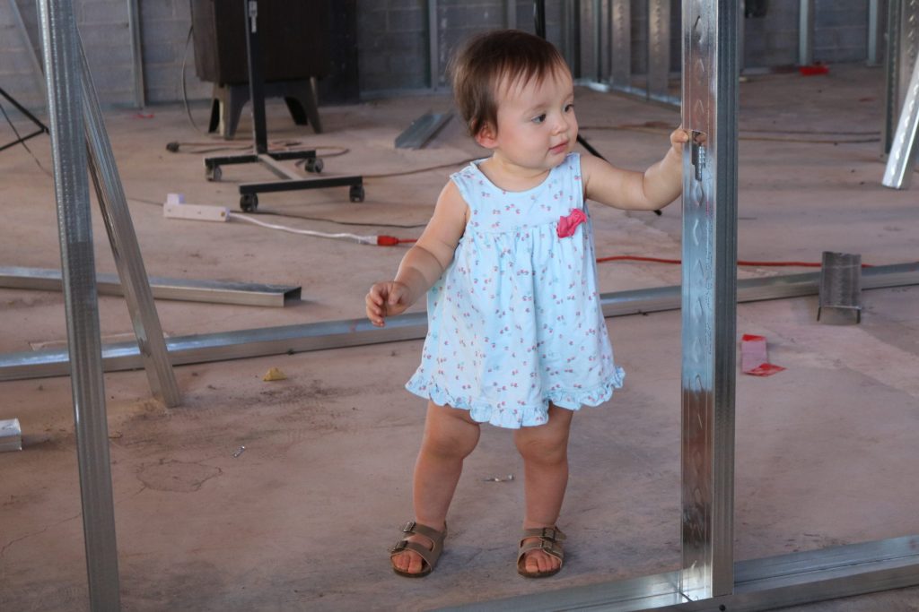
<path fill-rule="evenodd" d="M 625 371 L 617 368 L 616 373 L 603 384 L 590 389 L 558 390 L 543 395 L 541 406 L 524 406 L 523 408 L 499 408 L 489 402 L 470 401 L 469 398 L 451 395 L 440 385 L 428 382 L 418 383 L 414 377 L 405 384 L 405 388 L 414 395 L 430 399 L 438 406 L 451 406 L 470 411 L 470 417 L 477 423 L 489 423 L 499 428 L 519 429 L 545 425 L 549 420 L 549 403 L 567 410 L 579 410 L 581 406 L 599 406 L 613 396 L 616 389 L 622 388 Z"/>

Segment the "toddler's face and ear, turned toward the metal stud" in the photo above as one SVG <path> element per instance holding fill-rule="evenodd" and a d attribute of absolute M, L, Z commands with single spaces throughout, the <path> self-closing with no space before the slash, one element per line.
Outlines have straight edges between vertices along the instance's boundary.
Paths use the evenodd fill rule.
<path fill-rule="evenodd" d="M 497 128 L 482 128 L 479 144 L 527 170 L 550 170 L 565 159 L 577 140 L 574 86 L 566 69 L 541 83 L 498 83 L 496 97 Z"/>

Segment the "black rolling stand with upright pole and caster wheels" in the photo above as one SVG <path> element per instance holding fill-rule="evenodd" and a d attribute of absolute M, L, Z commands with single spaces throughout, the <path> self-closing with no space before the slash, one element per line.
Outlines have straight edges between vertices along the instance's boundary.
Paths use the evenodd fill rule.
<path fill-rule="evenodd" d="M 298 191 L 301 189 L 324 189 L 327 187 L 349 187 L 352 202 L 364 201 L 364 181 L 359 175 L 335 176 L 331 178 L 305 179 L 292 172 L 278 161 L 304 160 L 307 172 L 322 172 L 323 161 L 316 159 L 315 150 L 269 151 L 265 120 L 265 83 L 262 79 L 262 54 L 258 40 L 258 2 L 240 0 L 245 15 L 245 50 L 248 61 L 249 100 L 252 104 L 254 147 L 252 153 L 207 157 L 204 159 L 205 177 L 209 181 L 221 180 L 221 166 L 241 163 L 261 163 L 273 172 L 280 181 L 269 183 L 244 183 L 239 185 L 239 207 L 253 212 L 258 207 L 258 194 Z"/>

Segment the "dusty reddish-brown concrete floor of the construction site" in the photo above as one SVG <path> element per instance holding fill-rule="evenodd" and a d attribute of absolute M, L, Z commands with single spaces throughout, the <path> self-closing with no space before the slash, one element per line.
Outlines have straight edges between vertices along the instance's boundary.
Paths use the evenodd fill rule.
<path fill-rule="evenodd" d="M 578 92 L 582 133 L 619 165 L 644 168 L 667 146 L 679 114 L 617 95 Z M 819 261 L 823 250 L 871 264 L 915 261 L 917 187 L 880 186 L 879 68 L 833 66 L 825 76 L 751 78 L 741 86 L 739 255 Z M 344 147 L 327 175 L 361 173 L 367 201 L 346 189 L 264 195 L 260 219 L 323 231 L 416 237 L 448 172 L 482 155 L 454 119 L 424 150 L 393 139 L 445 96 L 324 107 L 325 133 L 293 126 L 268 105 L 269 137 Z M 199 125 L 207 109 L 193 106 Z M 201 148 L 221 140 L 190 127 L 181 106 L 107 114 L 108 133 L 148 273 L 189 279 L 302 285 L 284 309 L 158 301 L 171 336 L 363 315 L 363 296 L 389 278 L 403 248 L 304 238 L 242 222 L 165 219 L 169 192 L 231 206 L 236 184 L 270 180 L 258 167 L 204 179 Z M 630 126 L 644 126 L 630 128 Z M 650 128 L 648 128 L 650 126 Z M 656 127 L 662 126 L 662 127 Z M 616 128 L 618 127 L 618 128 Z M 613 129 L 610 129 L 613 128 Z M 0 126 L 0 139 L 10 139 Z M 239 139 L 250 124 L 244 118 Z M 47 138 L 28 146 L 50 168 Z M 429 172 L 372 177 L 451 164 Z M 60 266 L 51 178 L 26 150 L 0 153 L 0 262 Z M 678 258 L 678 206 L 626 214 L 593 206 L 600 256 Z M 348 227 L 331 221 L 367 224 Z M 390 227 L 387 224 L 404 227 Z M 94 211 L 96 267 L 113 273 Z M 744 267 L 743 278 L 804 272 Z M 600 265 L 601 291 L 678 284 L 678 266 Z M 765 335 L 767 378 L 738 374 L 737 559 L 810 551 L 919 533 L 919 287 L 863 295 L 861 325 L 815 321 L 816 297 L 744 304 L 738 334 Z M 65 339 L 62 295 L 0 289 L 0 351 Z M 101 297 L 105 339 L 124 339 L 124 301 Z M 625 388 L 574 419 L 572 478 L 560 525 L 562 573 L 516 575 L 522 488 L 507 432 L 484 427 L 449 517 L 437 573 L 391 573 L 386 548 L 411 513 L 410 478 L 424 403 L 403 390 L 420 340 L 176 367 L 183 405 L 151 399 L 142 372 L 106 375 L 122 605 L 125 610 L 427 610 L 673 570 L 679 564 L 680 315 L 609 321 Z M 266 383 L 278 367 L 287 380 Z M 0 384 L 0 418 L 18 417 L 25 449 L 0 454 L 0 609 L 88 606 L 67 378 Z M 233 451 L 244 445 L 242 455 Z M 809 610 L 919 610 L 919 588 L 807 606 Z M 804 608 L 801 608 L 804 609 Z"/>

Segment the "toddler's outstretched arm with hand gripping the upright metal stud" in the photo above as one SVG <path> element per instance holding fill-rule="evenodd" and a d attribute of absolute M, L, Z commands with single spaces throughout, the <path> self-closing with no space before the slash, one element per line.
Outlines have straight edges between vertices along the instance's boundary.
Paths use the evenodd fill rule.
<path fill-rule="evenodd" d="M 670 135 L 664 159 L 644 173 L 622 170 L 593 155 L 581 157 L 584 197 L 625 210 L 657 210 L 676 199 L 683 190 L 683 128 Z"/>

